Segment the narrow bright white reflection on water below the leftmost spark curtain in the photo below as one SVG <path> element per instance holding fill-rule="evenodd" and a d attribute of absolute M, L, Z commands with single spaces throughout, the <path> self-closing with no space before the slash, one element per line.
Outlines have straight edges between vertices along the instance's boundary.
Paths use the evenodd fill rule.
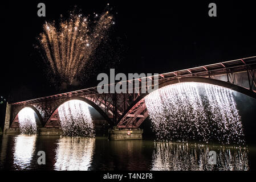
<path fill-rule="evenodd" d="M 14 138 L 13 163 L 17 169 L 28 169 L 35 151 L 36 135 L 18 135 Z"/>

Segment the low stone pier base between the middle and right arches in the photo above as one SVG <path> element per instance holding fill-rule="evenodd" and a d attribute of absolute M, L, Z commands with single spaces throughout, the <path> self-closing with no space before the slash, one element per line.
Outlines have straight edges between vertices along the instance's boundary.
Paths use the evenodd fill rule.
<path fill-rule="evenodd" d="M 142 139 L 143 130 L 141 129 L 109 129 L 109 140 L 135 140 Z"/>

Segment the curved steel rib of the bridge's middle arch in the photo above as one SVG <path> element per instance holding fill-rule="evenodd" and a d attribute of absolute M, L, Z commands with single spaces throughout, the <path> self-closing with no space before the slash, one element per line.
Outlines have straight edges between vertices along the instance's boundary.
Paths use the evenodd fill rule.
<path fill-rule="evenodd" d="M 58 114 L 58 108 L 64 104 L 65 102 L 68 102 L 68 101 L 71 101 L 71 100 L 80 100 L 80 101 L 83 101 L 83 102 L 86 102 L 88 105 L 94 107 L 95 110 L 97 110 L 103 117 L 104 119 L 109 123 L 109 125 L 112 125 L 113 122 L 111 121 L 111 119 L 108 117 L 107 114 L 104 113 L 103 110 L 100 109 L 99 106 L 97 106 L 93 101 L 91 100 L 88 100 L 87 98 L 84 98 L 84 97 L 70 97 L 62 102 L 60 102 L 58 104 L 58 106 L 56 106 L 54 108 L 54 110 L 52 111 L 52 113 L 50 114 L 50 117 L 47 119 L 47 122 L 46 124 L 44 125 L 44 127 L 49 127 L 50 126 L 50 122 L 52 121 L 52 119 L 56 120 L 56 118 L 58 116 L 56 116 L 56 114 Z"/>

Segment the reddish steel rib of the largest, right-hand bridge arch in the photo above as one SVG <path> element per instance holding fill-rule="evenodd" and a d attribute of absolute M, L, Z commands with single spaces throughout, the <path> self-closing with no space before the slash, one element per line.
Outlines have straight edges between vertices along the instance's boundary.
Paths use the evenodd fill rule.
<path fill-rule="evenodd" d="M 231 84 L 230 82 L 217 80 L 214 78 L 208 77 L 182 77 L 182 78 L 175 78 L 172 80 L 167 80 L 162 82 L 159 85 L 159 89 L 163 88 L 164 86 L 178 84 L 181 82 L 200 82 L 206 84 L 212 84 L 217 86 L 222 86 L 224 88 L 228 88 L 234 90 L 236 92 L 245 94 L 251 98 L 256 100 L 256 93 L 253 90 L 243 88 L 242 86 Z M 147 106 L 145 105 L 145 97 L 149 93 L 141 94 L 132 105 L 128 107 L 128 109 L 121 115 L 119 118 L 117 127 L 119 128 L 137 128 L 141 125 L 141 123 L 148 117 Z"/>

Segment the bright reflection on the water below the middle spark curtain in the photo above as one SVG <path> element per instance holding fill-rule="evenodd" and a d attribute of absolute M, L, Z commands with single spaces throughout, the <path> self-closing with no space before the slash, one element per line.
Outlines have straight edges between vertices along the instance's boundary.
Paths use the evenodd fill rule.
<path fill-rule="evenodd" d="M 95 138 L 62 137 L 56 148 L 55 170 L 83 170 L 91 166 Z"/>

